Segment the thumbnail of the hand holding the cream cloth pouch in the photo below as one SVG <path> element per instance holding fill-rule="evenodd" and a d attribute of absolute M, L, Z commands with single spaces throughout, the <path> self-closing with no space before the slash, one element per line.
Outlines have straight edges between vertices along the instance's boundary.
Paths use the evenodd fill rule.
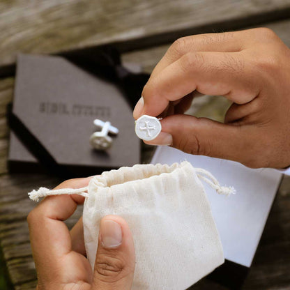
<path fill-rule="evenodd" d="M 122 243 L 122 229 L 114 220 L 101 220 L 100 240 L 106 248 L 118 247 Z"/>

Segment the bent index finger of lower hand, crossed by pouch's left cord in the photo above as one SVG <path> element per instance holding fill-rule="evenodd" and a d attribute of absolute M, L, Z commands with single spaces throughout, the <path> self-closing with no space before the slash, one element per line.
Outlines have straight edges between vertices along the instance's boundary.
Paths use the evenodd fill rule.
<path fill-rule="evenodd" d="M 76 178 L 61 183 L 59 188 L 82 188 L 91 178 Z M 58 195 L 45 197 L 27 217 L 33 258 L 42 270 L 57 268 L 57 261 L 72 250 L 70 232 L 63 222 L 73 215 L 84 197 L 78 195 Z"/>

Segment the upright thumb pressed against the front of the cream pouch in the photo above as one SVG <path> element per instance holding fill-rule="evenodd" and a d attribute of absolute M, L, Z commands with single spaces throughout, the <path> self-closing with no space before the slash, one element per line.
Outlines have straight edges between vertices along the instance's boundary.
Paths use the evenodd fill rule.
<path fill-rule="evenodd" d="M 107 215 L 100 222 L 92 289 L 129 290 L 135 270 L 132 234 L 123 218 Z"/>

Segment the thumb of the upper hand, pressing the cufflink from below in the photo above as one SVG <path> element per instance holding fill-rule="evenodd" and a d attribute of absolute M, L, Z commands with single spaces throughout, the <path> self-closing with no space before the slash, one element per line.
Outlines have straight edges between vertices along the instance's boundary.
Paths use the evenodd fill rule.
<path fill-rule="evenodd" d="M 160 135 L 146 144 L 170 145 L 185 153 L 247 163 L 250 128 L 183 114 L 168 116 L 161 123 Z"/>

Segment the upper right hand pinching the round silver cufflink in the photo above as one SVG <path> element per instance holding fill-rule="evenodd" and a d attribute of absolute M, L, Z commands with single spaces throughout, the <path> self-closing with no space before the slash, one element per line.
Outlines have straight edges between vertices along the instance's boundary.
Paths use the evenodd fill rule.
<path fill-rule="evenodd" d="M 224 96 L 224 123 L 183 114 L 194 93 Z M 270 29 L 180 38 L 153 70 L 135 119 L 164 116 L 147 144 L 235 160 L 247 167 L 290 165 L 290 50 Z"/>

